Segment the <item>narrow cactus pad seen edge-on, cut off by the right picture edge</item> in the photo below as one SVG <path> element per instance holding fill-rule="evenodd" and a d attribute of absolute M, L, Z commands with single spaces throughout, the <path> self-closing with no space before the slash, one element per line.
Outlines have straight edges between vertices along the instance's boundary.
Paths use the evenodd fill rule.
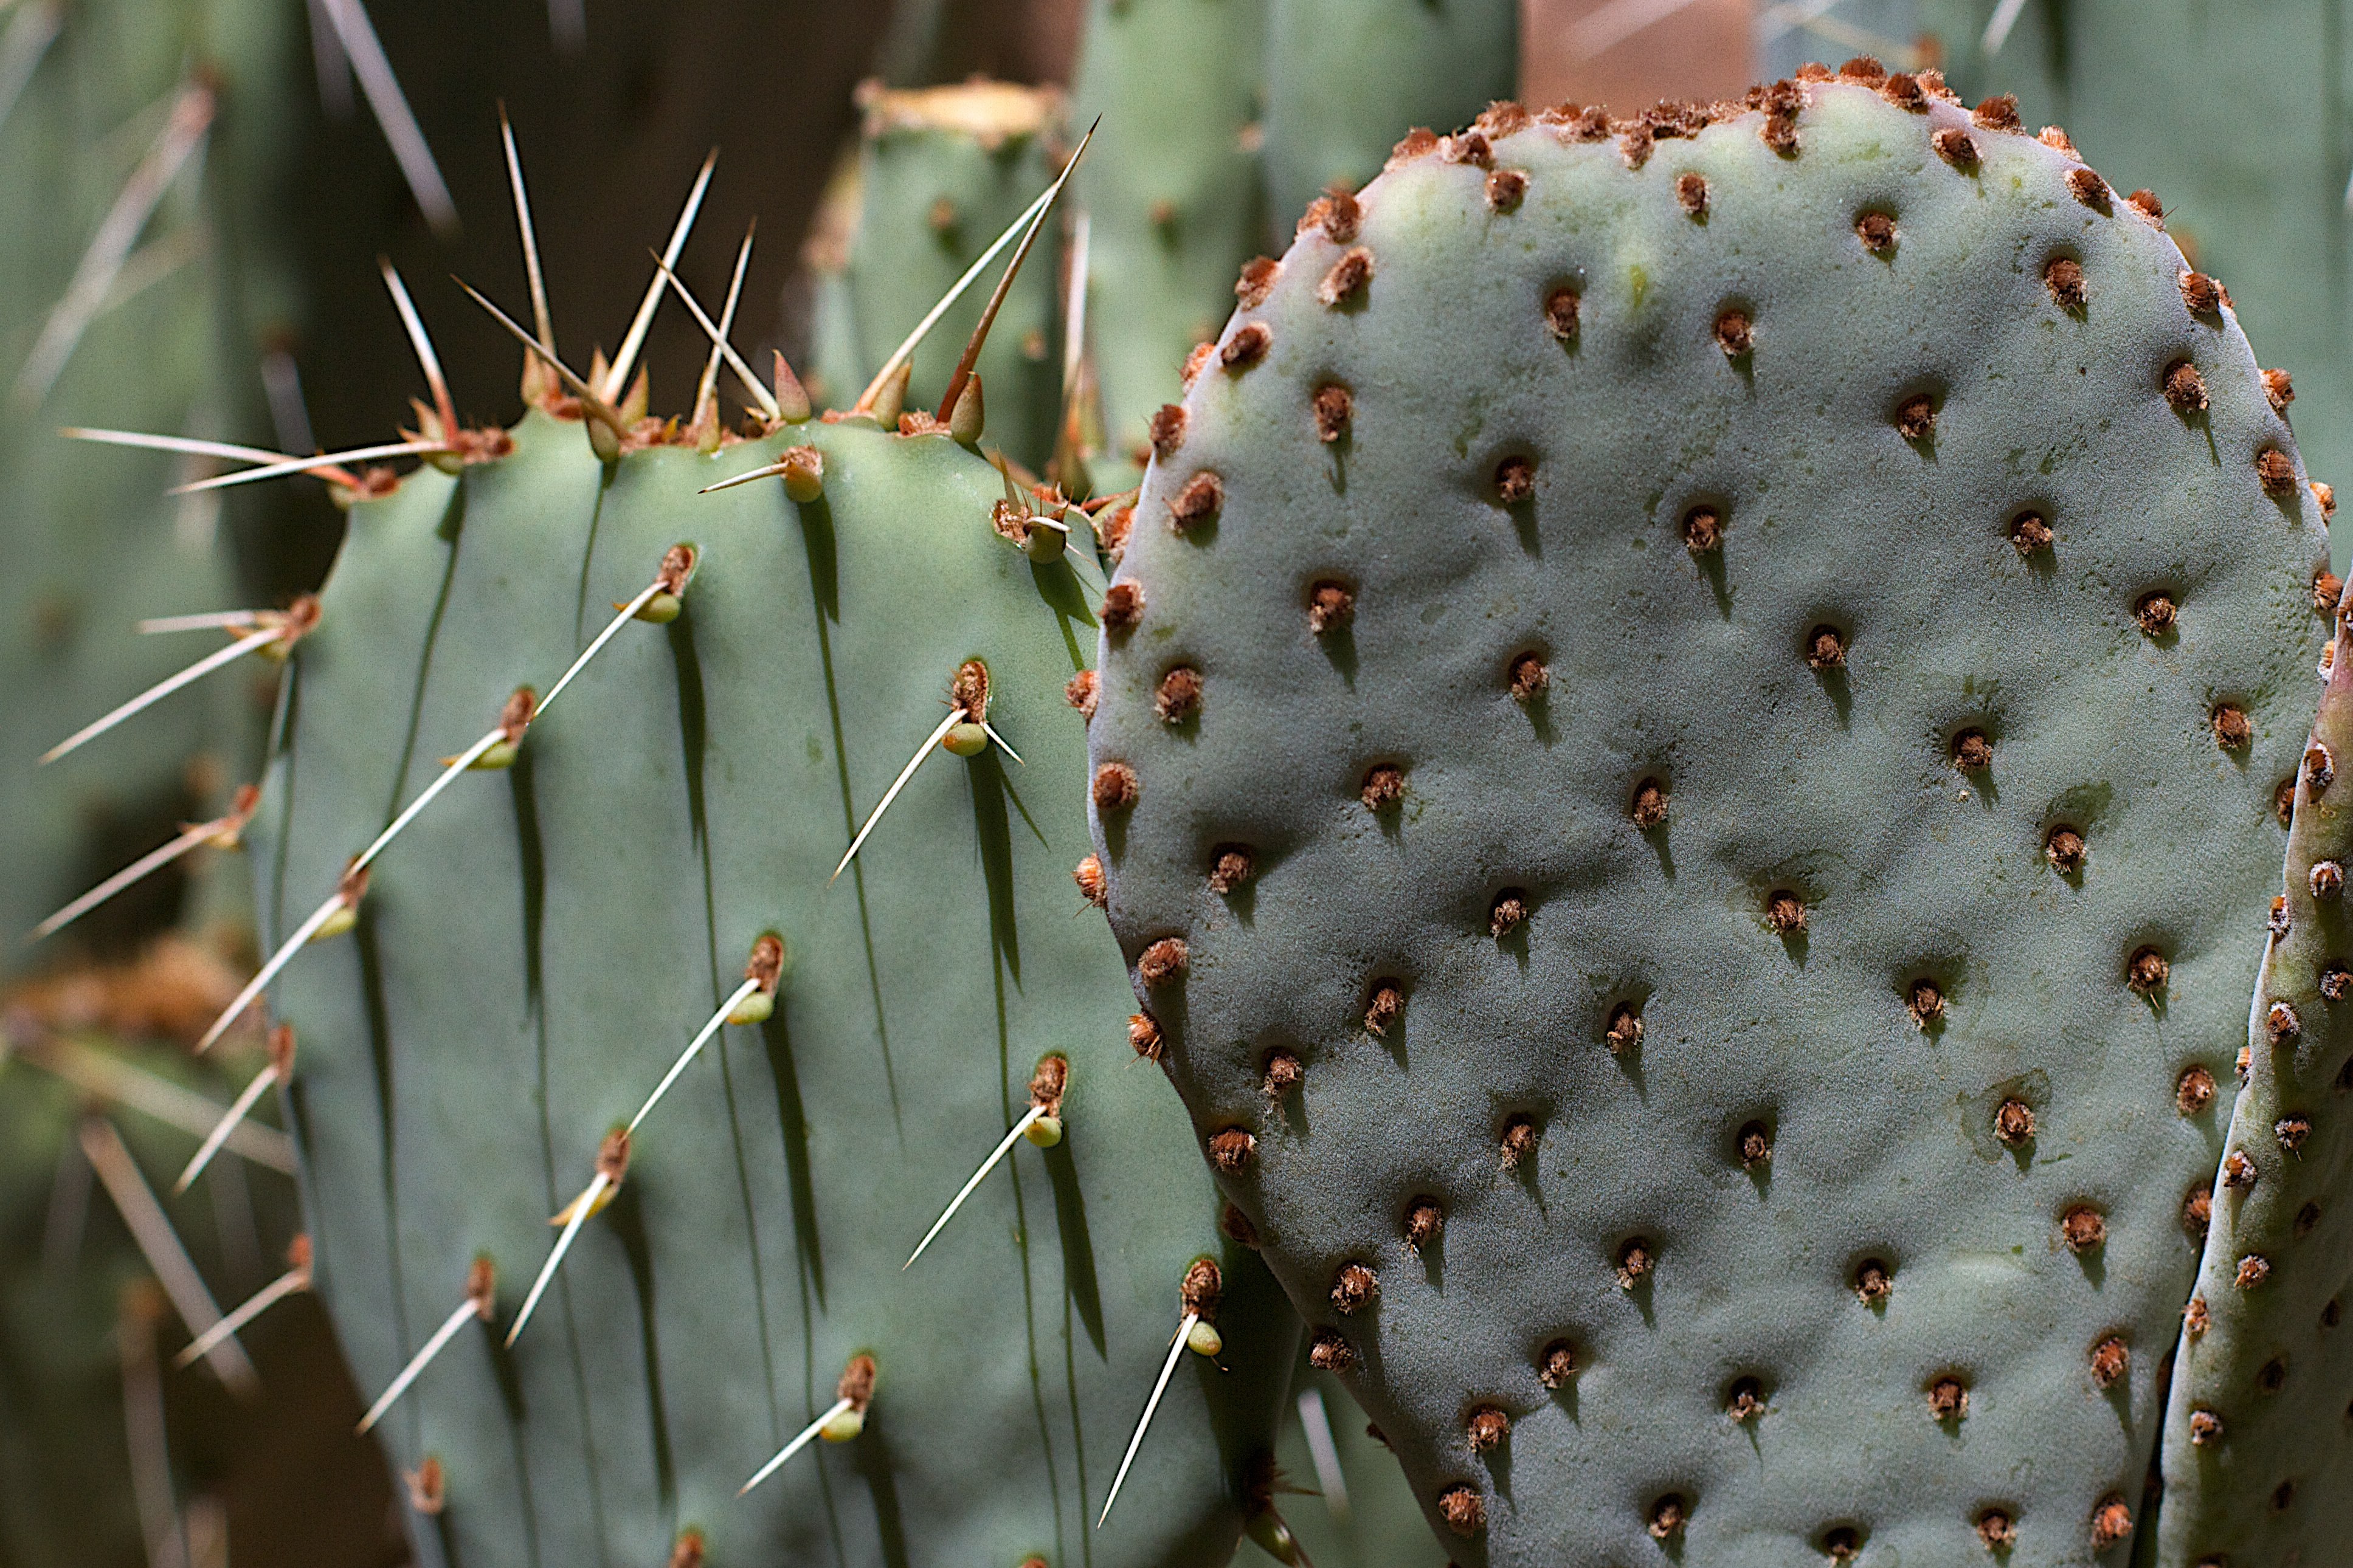
<path fill-rule="evenodd" d="M 2348 757 L 2353 663 L 2339 632 L 2174 1363 L 2155 1559 L 2165 1568 L 2327 1563 L 2353 1540 Z"/>

